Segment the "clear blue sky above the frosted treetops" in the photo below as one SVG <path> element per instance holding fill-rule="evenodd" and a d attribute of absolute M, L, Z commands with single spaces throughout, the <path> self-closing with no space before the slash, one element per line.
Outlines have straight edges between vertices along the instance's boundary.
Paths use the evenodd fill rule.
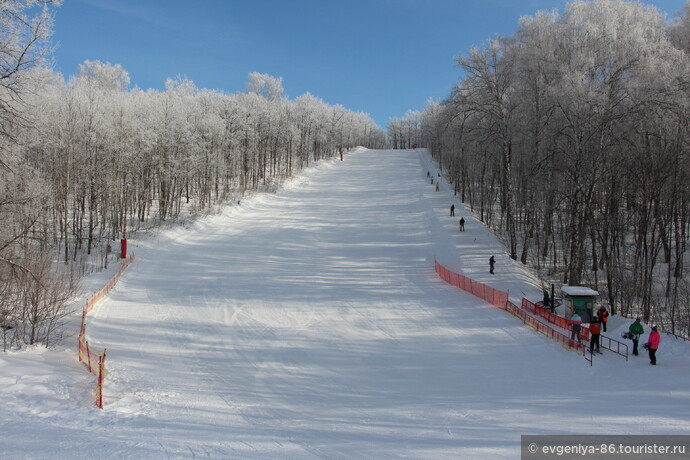
<path fill-rule="evenodd" d="M 685 0 L 649 0 L 669 16 Z M 283 77 L 291 99 L 310 92 L 366 112 L 381 126 L 460 77 L 453 59 L 522 15 L 566 0 L 64 0 L 56 11 L 55 70 L 85 60 L 120 64 L 132 86 L 244 91 L 250 72 Z"/>

